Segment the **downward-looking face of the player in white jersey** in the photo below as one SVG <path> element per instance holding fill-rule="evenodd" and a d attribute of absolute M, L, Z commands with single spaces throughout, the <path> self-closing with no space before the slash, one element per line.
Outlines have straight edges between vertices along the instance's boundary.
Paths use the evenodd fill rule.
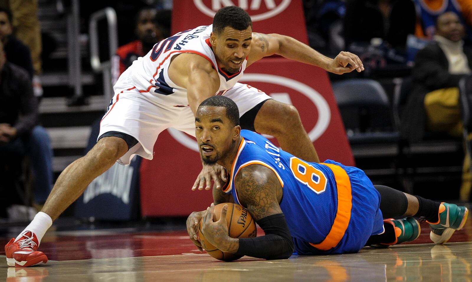
<path fill-rule="evenodd" d="M 225 27 L 221 34 L 211 33 L 211 46 L 220 67 L 227 73 L 239 71 L 244 59 L 251 51 L 253 29 L 245 30 Z"/>

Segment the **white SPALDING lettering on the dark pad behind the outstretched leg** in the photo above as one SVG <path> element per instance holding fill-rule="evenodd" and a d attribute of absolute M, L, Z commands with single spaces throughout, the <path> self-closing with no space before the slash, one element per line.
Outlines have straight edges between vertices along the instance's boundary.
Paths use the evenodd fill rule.
<path fill-rule="evenodd" d="M 133 166 L 115 163 L 88 185 L 84 192 L 84 204 L 101 194 L 112 194 L 128 204 L 134 169 Z"/>

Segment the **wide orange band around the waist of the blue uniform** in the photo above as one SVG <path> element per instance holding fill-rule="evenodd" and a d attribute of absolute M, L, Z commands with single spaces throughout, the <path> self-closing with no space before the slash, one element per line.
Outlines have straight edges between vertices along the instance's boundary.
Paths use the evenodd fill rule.
<path fill-rule="evenodd" d="M 349 225 L 349 220 L 351 219 L 351 182 L 349 181 L 349 176 L 347 175 L 346 171 L 340 166 L 325 163 L 320 163 L 320 165 L 328 166 L 333 172 L 334 178 L 336 179 L 337 213 L 328 236 L 326 236 L 326 238 L 321 243 L 310 243 L 310 245 L 316 249 L 329 250 L 336 247 L 341 239 L 343 239 L 347 226 Z"/>

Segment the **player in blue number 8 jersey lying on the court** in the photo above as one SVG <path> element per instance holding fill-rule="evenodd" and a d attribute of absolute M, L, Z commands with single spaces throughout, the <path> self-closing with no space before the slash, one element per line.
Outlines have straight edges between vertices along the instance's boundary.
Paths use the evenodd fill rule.
<path fill-rule="evenodd" d="M 438 203 L 372 185 L 362 170 L 326 160 L 306 162 L 278 149 L 261 135 L 241 130 L 236 104 L 222 96 L 202 102 L 195 135 L 202 159 L 226 168 L 228 182 L 213 189 L 214 203 L 187 219 L 187 231 L 201 249 L 196 228 L 218 249 L 265 259 L 299 255 L 355 253 L 365 245 L 394 245 L 420 234 L 414 217 L 430 223 L 430 238 L 446 242 L 467 219 L 466 207 Z M 228 236 L 226 212 L 213 222 L 213 205 L 246 207 L 265 235 Z M 382 216 L 383 215 L 383 216 Z M 383 217 L 404 219 L 383 220 Z"/>

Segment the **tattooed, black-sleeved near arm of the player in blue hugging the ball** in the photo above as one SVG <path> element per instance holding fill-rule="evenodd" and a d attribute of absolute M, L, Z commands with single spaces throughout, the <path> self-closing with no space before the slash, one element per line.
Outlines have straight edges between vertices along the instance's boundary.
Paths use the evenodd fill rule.
<path fill-rule="evenodd" d="M 224 252 L 265 259 L 290 257 L 294 251 L 294 243 L 278 205 L 282 187 L 277 176 L 265 166 L 246 166 L 237 174 L 235 185 L 240 203 L 248 209 L 265 235 L 244 239 L 229 237 L 227 209 L 223 208 L 219 221 L 213 222 L 211 206 L 203 216 L 202 232 L 205 238 Z"/>

